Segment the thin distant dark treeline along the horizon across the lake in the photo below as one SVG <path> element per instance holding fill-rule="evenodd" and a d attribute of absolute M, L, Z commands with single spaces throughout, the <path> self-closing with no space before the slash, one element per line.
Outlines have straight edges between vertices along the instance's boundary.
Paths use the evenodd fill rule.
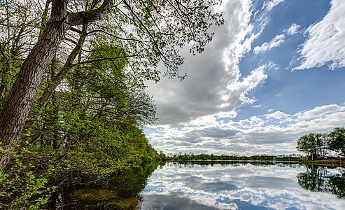
<path fill-rule="evenodd" d="M 169 154 L 164 160 L 300 160 L 300 155 L 209 155 L 201 153 L 194 155 L 193 153 Z"/>

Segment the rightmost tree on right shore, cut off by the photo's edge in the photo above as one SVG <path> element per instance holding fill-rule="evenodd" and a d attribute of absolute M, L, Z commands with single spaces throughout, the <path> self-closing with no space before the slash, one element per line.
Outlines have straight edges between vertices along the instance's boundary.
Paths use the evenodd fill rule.
<path fill-rule="evenodd" d="M 330 150 L 342 153 L 345 156 L 345 128 L 336 127 L 328 134 L 328 145 Z"/>

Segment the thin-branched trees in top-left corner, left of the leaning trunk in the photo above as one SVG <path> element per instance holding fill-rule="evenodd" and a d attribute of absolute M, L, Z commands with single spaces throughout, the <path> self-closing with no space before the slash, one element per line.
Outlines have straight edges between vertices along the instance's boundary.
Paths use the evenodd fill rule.
<path fill-rule="evenodd" d="M 32 9 L 26 0 L 0 3 L 0 109 L 22 66 L 24 54 L 31 48 L 29 43 L 37 37 L 39 20 L 30 15 Z"/>

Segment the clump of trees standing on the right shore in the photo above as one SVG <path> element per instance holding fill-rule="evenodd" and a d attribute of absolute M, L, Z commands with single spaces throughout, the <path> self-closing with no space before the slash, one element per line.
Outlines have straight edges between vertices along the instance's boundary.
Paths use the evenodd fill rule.
<path fill-rule="evenodd" d="M 300 137 L 297 150 L 306 153 L 307 160 L 321 160 L 331 152 L 345 156 L 345 128 L 337 127 L 329 133 L 310 133 Z"/>

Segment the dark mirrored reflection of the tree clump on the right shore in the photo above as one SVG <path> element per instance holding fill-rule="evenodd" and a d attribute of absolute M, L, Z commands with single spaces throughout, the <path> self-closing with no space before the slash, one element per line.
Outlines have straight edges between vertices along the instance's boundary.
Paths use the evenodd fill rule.
<path fill-rule="evenodd" d="M 298 184 L 312 192 L 330 192 L 338 198 L 345 198 L 345 169 L 336 168 L 339 173 L 330 170 L 335 167 L 306 165 L 307 171 L 297 175 Z"/>

